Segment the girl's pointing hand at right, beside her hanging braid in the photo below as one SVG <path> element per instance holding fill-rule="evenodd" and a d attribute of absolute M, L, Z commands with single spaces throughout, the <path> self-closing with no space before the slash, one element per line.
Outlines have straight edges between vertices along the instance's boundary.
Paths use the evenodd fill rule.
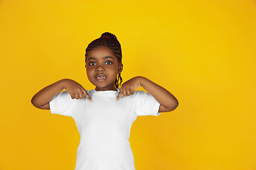
<path fill-rule="evenodd" d="M 117 96 L 117 101 L 122 96 L 122 94 L 124 95 L 124 97 L 134 94 L 135 90 L 140 86 L 141 86 L 140 77 L 134 77 L 132 79 L 129 79 L 124 84 L 122 84 L 122 87 L 120 88 L 120 92 Z"/>

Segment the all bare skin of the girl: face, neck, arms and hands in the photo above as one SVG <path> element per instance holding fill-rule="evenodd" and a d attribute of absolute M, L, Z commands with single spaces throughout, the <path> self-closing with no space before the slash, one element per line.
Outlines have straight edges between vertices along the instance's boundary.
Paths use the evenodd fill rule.
<path fill-rule="evenodd" d="M 96 91 L 117 91 L 115 79 L 117 74 L 122 72 L 123 64 L 118 62 L 112 50 L 108 47 L 96 47 L 88 52 L 86 60 L 87 77 L 95 85 Z M 160 103 L 159 113 L 174 111 L 178 106 L 178 101 L 169 91 L 155 84 L 145 77 L 134 77 L 122 84 L 117 101 L 124 95 L 125 97 L 135 93 L 136 89 L 142 86 L 149 94 Z M 50 109 L 49 102 L 53 97 L 65 89 L 71 98 L 82 99 L 85 95 L 90 101 L 89 94 L 83 86 L 71 79 L 61 79 L 38 91 L 33 96 L 31 103 L 36 108 Z"/>

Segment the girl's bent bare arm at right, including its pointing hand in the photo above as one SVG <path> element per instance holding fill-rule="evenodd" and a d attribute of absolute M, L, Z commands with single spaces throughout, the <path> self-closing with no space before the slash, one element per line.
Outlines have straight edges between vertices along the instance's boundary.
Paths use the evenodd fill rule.
<path fill-rule="evenodd" d="M 139 88 L 139 86 L 142 86 L 147 92 L 149 92 L 149 94 L 156 98 L 156 101 L 160 103 L 159 113 L 174 111 L 178 106 L 178 101 L 174 95 L 145 77 L 134 77 L 122 84 L 117 100 L 119 100 L 122 94 L 125 97 L 134 94 L 135 90 Z"/>

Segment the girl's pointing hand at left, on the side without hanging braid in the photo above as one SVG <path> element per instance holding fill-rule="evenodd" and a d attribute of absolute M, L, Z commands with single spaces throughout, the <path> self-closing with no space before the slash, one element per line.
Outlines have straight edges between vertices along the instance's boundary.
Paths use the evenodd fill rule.
<path fill-rule="evenodd" d="M 83 95 L 85 95 L 89 101 L 92 101 L 92 98 L 90 98 L 87 91 L 78 82 L 73 81 L 72 79 L 63 79 L 62 81 L 64 89 L 68 91 L 68 94 L 70 94 L 71 98 L 82 99 Z"/>

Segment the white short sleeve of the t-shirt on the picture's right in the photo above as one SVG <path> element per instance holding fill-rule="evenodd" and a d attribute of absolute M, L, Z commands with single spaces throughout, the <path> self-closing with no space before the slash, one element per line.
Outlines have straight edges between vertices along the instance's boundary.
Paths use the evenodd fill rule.
<path fill-rule="evenodd" d="M 136 115 L 159 115 L 160 103 L 144 91 L 136 91 L 134 96 Z"/>

